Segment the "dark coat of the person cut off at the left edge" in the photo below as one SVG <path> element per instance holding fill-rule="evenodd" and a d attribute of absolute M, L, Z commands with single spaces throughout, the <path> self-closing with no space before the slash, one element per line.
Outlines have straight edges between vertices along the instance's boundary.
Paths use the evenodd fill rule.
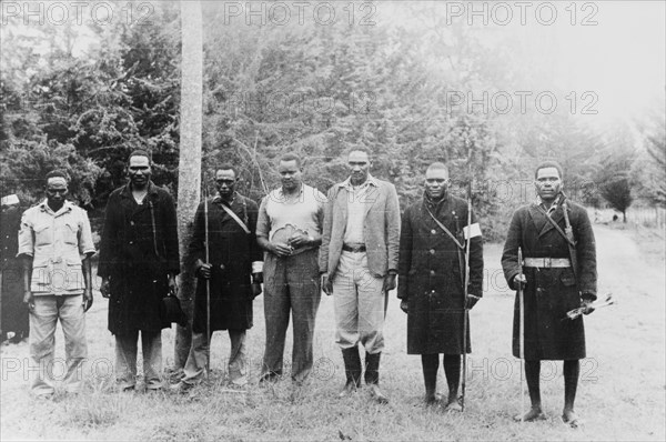
<path fill-rule="evenodd" d="M 2 270 L 0 330 L 2 330 L 2 338 L 10 331 L 27 336 L 30 329 L 28 309 L 23 304 L 23 268 L 21 260 L 17 258 L 20 225 L 21 209 L 18 205 L 2 208 L 0 215 L 0 270 Z"/>

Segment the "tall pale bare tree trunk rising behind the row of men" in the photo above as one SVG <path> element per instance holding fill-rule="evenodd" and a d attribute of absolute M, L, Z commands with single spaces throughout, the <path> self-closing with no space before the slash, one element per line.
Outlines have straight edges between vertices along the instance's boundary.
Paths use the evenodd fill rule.
<path fill-rule="evenodd" d="M 195 279 L 191 273 L 188 244 L 201 197 L 201 130 L 203 112 L 203 30 L 201 2 L 181 1 L 181 108 L 180 162 L 178 174 L 178 228 L 180 240 L 180 295 L 188 327 L 176 325 L 174 369 L 182 370 L 192 342 Z"/>

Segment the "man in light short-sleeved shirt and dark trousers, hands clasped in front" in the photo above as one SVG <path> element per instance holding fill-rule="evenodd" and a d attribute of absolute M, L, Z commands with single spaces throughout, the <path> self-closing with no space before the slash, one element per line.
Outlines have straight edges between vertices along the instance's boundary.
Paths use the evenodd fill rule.
<path fill-rule="evenodd" d="M 256 241 L 264 254 L 266 348 L 260 383 L 282 375 L 284 336 L 293 319 L 291 378 L 300 388 L 312 372 L 314 323 L 321 300 L 317 268 L 325 197 L 302 182 L 301 159 L 285 154 L 282 187 L 261 202 Z"/>

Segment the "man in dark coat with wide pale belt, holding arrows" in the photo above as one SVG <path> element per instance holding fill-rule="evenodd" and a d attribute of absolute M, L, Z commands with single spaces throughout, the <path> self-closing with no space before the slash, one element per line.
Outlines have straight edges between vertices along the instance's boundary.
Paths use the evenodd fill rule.
<path fill-rule="evenodd" d="M 589 304 L 596 299 L 596 245 L 587 211 L 565 197 L 562 179 L 559 164 L 544 162 L 537 167 L 537 201 L 514 213 L 502 268 L 512 289 L 517 290 L 518 284 L 524 287 L 525 378 L 532 409 L 516 420 L 545 419 L 539 391 L 541 361 L 559 360 L 564 361 L 562 419 L 576 426 L 574 401 L 579 360 L 585 358 L 585 330 L 582 317 L 564 318 L 569 310 L 579 307 L 585 308 L 586 314 L 594 310 Z M 566 238 L 567 224 L 573 229 L 575 241 L 573 257 Z M 519 272 L 518 248 L 523 251 L 524 273 Z M 516 358 L 521 354 L 519 315 L 516 297 L 513 327 L 513 354 Z"/>

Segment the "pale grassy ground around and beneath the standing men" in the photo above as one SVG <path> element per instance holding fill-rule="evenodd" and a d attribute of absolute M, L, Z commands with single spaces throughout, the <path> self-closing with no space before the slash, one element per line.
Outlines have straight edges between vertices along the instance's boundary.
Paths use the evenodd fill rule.
<path fill-rule="evenodd" d="M 251 385 L 244 393 L 225 386 L 229 339 L 213 339 L 211 384 L 190 394 L 117 393 L 112 389 L 113 339 L 107 331 L 107 301 L 95 293 L 89 311 L 88 385 L 79 396 L 59 393 L 53 402 L 30 399 L 28 344 L 1 348 L 2 440 L 665 440 L 665 275 L 663 237 L 595 225 L 599 293 L 617 305 L 587 317 L 587 354 L 582 363 L 576 409 L 585 425 L 562 423 L 561 363 L 544 363 L 543 400 L 548 420 L 515 423 L 519 411 L 519 363 L 511 355 L 513 293 L 500 269 L 501 244 L 486 244 L 484 299 L 471 313 L 466 411 L 444 414 L 422 404 L 417 356 L 405 354 L 406 318 L 393 295 L 386 319 L 381 383 L 391 399 L 372 402 L 365 391 L 337 400 L 344 382 L 334 343 L 333 302 L 322 300 L 315 336 L 315 372 L 303 395 L 292 401 L 291 382 L 259 388 L 263 353 L 262 298 L 249 332 Z M 639 245 L 652 243 L 648 252 Z M 289 331 L 291 334 L 291 329 Z M 163 332 L 165 366 L 172 362 L 173 330 Z M 58 331 L 62 356 L 62 334 Z M 291 359 L 291 339 L 285 361 Z M 97 370 L 92 371 L 91 368 Z M 92 376 L 95 372 L 98 376 Z M 446 392 L 443 373 L 440 389 Z"/>

